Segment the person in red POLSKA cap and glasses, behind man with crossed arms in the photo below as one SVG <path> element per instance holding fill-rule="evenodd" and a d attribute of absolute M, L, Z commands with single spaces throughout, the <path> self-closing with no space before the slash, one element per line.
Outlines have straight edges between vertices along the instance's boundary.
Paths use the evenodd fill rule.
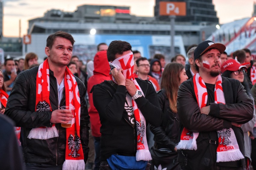
<path fill-rule="evenodd" d="M 240 83 L 245 87 L 247 95 L 253 100 L 253 97 L 250 93 L 250 88 L 249 88 L 247 79 L 244 76 L 246 74 L 246 69 L 247 69 L 246 66 L 241 65 L 238 61 L 234 59 L 229 59 L 221 65 L 222 76 L 227 78 L 234 78 L 240 81 Z M 251 164 L 251 145 L 250 145 L 250 138 L 248 136 L 248 132 L 252 134 L 255 121 L 256 121 L 256 115 L 255 115 L 255 109 L 254 109 L 253 118 L 249 122 L 241 126 L 244 132 L 246 169 L 248 169 L 248 167 Z"/>

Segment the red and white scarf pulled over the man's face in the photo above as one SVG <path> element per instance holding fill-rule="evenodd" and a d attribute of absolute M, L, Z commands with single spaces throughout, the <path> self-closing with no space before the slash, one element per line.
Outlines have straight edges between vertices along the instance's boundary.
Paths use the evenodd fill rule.
<path fill-rule="evenodd" d="M 118 57 L 112 63 L 109 62 L 111 67 L 119 69 L 123 69 L 123 75 L 125 78 L 130 79 L 135 84 L 136 88 L 142 92 L 139 84 L 137 83 L 136 79 L 133 75 L 133 68 L 134 68 L 134 60 L 133 60 L 133 53 L 129 53 L 123 55 L 122 57 Z M 112 68 L 113 68 L 112 67 Z M 110 78 L 112 81 L 116 83 L 113 76 L 110 74 Z M 143 92 L 142 92 L 143 94 Z M 144 96 L 144 94 L 143 94 Z M 137 107 L 135 100 L 132 100 L 133 104 L 133 113 L 136 120 L 136 128 L 137 128 L 137 152 L 136 152 L 136 160 L 152 160 L 151 154 L 148 150 L 148 142 L 146 138 L 146 120 L 142 115 L 140 109 Z"/>

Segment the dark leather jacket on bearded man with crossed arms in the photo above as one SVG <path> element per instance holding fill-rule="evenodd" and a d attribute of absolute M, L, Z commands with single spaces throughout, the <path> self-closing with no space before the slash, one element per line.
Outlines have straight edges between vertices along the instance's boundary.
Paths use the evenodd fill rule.
<path fill-rule="evenodd" d="M 194 92 L 193 78 L 184 81 L 179 86 L 177 109 L 178 117 L 182 124 L 180 134 L 184 127 L 193 132 L 200 132 L 197 137 L 197 150 L 178 150 L 178 161 L 184 170 L 215 170 L 217 169 L 217 165 L 245 167 L 244 159 L 216 163 L 216 150 L 218 146 L 216 131 L 224 128 L 232 128 L 239 149 L 244 155 L 243 131 L 241 128 L 231 125 L 231 122 L 244 124 L 250 121 L 253 117 L 254 109 L 253 101 L 248 97 L 244 87 L 238 80 L 226 77 L 221 78 L 226 104 L 209 103 L 208 99 L 207 105 L 210 105 L 208 115 L 201 114 L 200 112 Z M 217 142 L 215 143 L 214 141 Z"/>

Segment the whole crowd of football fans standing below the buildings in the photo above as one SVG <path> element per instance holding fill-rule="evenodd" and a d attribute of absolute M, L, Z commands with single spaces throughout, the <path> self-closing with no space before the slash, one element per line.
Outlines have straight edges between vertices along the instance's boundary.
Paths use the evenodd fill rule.
<path fill-rule="evenodd" d="M 58 31 L 43 63 L 5 59 L 1 169 L 256 169 L 249 49 L 207 40 L 168 63 L 115 40 L 85 66 L 74 43 Z"/>

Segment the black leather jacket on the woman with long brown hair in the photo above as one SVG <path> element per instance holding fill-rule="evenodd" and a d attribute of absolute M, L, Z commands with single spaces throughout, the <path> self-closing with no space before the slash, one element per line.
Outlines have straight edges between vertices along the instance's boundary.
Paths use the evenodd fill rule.
<path fill-rule="evenodd" d="M 177 113 L 173 113 L 169 107 L 169 100 L 165 91 L 160 90 L 157 93 L 160 108 L 163 112 L 163 119 L 160 127 L 150 125 L 150 130 L 154 134 L 154 141 L 157 142 L 157 148 L 169 148 L 174 151 L 178 143 L 179 120 Z"/>

